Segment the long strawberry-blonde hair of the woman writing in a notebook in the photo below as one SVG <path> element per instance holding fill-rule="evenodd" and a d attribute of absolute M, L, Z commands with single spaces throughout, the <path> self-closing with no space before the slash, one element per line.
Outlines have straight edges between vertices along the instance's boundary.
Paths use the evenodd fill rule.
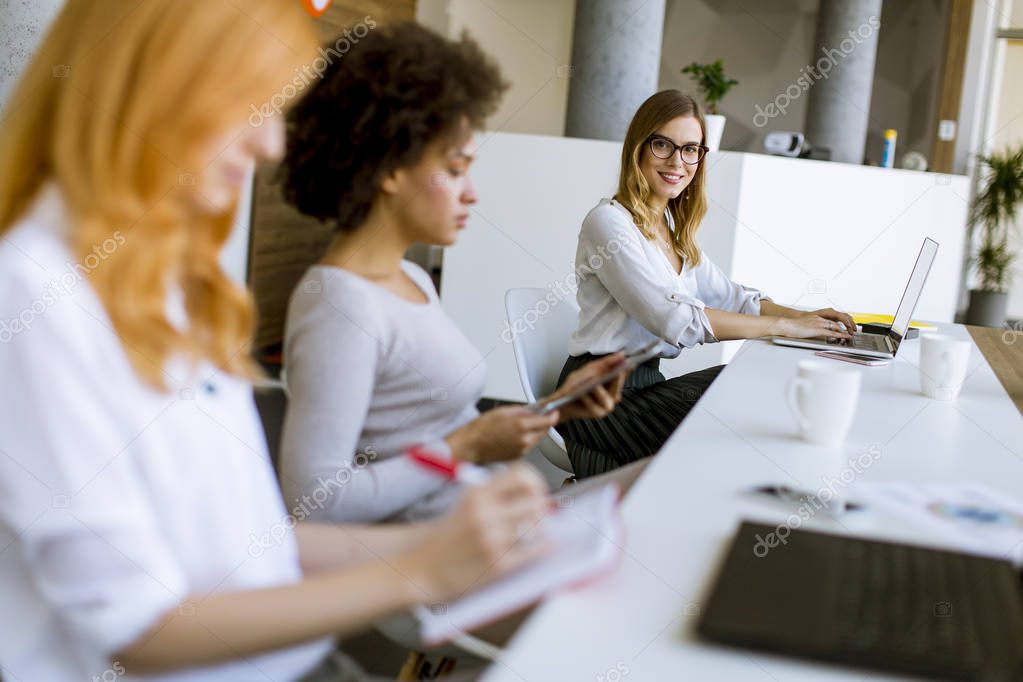
<path fill-rule="evenodd" d="M 186 197 L 211 141 L 286 88 L 315 48 L 295 0 L 69 0 L 11 97 L 0 126 L 0 234 L 56 181 L 76 256 L 119 244 L 87 277 L 154 388 L 167 385 L 176 354 L 257 374 L 251 295 L 219 265 L 233 207 L 196 217 Z M 167 317 L 173 285 L 186 330 Z"/>

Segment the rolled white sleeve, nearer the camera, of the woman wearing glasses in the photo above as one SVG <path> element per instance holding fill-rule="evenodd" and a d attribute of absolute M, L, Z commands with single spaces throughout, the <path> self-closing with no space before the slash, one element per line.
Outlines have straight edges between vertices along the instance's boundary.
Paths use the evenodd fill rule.
<path fill-rule="evenodd" d="M 641 238 L 616 210 L 590 213 L 580 232 L 579 276 L 595 276 L 629 317 L 668 344 L 691 348 L 717 340 L 704 302 L 665 285 Z"/>

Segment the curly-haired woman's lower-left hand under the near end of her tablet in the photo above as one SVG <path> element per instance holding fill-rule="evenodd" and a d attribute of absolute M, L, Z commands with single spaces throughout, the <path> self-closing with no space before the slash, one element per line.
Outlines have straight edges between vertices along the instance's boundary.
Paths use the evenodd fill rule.
<path fill-rule="evenodd" d="M 486 464 L 518 459 L 536 447 L 558 423 L 559 410 L 536 414 L 514 405 L 487 410 L 445 440 L 455 458 Z"/>

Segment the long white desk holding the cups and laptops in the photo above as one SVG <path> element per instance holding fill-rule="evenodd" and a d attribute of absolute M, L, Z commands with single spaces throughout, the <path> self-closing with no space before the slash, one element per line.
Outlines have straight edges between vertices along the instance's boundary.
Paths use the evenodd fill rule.
<path fill-rule="evenodd" d="M 942 331 L 969 337 L 961 325 Z M 920 342 L 886 367 L 863 367 L 844 457 L 872 446 L 864 481 L 978 481 L 1023 495 L 1023 418 L 973 349 L 955 403 L 919 393 Z M 825 450 L 796 439 L 784 388 L 812 352 L 746 342 L 695 411 L 632 488 L 623 505 L 627 540 L 611 575 L 543 604 L 513 639 L 487 682 L 516 680 L 904 679 L 711 645 L 694 635 L 701 603 L 740 519 L 782 524 L 791 513 L 742 491 L 785 482 L 818 490 Z M 874 512 L 804 528 L 938 543 Z M 1021 536 L 1023 540 L 1023 536 Z M 625 672 L 627 670 L 627 673 Z"/>

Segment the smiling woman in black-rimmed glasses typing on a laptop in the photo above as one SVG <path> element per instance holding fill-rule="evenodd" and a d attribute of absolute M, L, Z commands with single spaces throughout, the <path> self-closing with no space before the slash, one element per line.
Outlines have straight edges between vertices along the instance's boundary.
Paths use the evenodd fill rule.
<path fill-rule="evenodd" d="M 722 367 L 665 380 L 661 358 L 732 338 L 846 337 L 852 318 L 804 312 L 730 281 L 697 243 L 707 213 L 706 125 L 692 97 L 665 90 L 640 105 L 622 147 L 618 191 L 587 214 L 579 234 L 579 325 L 562 377 L 609 353 L 661 342 L 621 403 L 601 419 L 559 424 L 576 475 L 656 453 Z"/>

